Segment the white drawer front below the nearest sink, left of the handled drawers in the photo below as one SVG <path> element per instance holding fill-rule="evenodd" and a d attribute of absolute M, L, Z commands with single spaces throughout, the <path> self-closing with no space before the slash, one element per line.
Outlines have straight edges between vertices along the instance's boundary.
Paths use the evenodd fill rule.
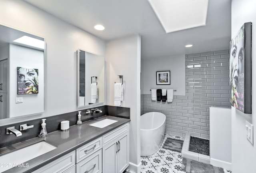
<path fill-rule="evenodd" d="M 76 152 L 72 151 L 55 161 L 37 169 L 36 171 L 33 171 L 32 173 L 63 173 L 72 165 L 75 165 L 75 159 L 76 159 Z"/>

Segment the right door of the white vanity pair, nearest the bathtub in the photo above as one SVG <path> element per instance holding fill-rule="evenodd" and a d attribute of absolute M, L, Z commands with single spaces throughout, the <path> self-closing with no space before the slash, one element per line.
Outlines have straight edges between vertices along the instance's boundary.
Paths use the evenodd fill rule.
<path fill-rule="evenodd" d="M 118 137 L 118 173 L 124 172 L 129 165 L 129 136 L 128 132 Z"/>

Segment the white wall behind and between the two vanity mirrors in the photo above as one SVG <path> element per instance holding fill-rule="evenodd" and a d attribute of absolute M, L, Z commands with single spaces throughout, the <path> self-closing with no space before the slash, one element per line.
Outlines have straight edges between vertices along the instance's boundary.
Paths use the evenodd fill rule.
<path fill-rule="evenodd" d="M 24 1 L 1 0 L 0 24 L 45 38 L 46 109 L 41 117 L 77 110 L 76 50 L 105 55 L 105 42 Z"/>

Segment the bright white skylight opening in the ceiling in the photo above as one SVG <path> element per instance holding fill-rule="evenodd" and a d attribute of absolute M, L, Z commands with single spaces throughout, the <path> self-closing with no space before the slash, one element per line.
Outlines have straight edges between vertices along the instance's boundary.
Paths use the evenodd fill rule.
<path fill-rule="evenodd" d="M 148 0 L 166 33 L 206 25 L 208 0 Z"/>

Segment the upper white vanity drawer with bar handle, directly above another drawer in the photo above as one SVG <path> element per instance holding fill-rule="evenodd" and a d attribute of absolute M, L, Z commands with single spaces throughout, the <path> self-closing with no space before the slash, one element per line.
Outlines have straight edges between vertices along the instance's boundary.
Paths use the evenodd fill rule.
<path fill-rule="evenodd" d="M 79 147 L 76 149 L 76 163 L 80 162 L 82 159 L 85 159 L 88 155 L 94 153 L 100 148 L 102 148 L 102 137 L 99 137 L 98 139 Z"/>

